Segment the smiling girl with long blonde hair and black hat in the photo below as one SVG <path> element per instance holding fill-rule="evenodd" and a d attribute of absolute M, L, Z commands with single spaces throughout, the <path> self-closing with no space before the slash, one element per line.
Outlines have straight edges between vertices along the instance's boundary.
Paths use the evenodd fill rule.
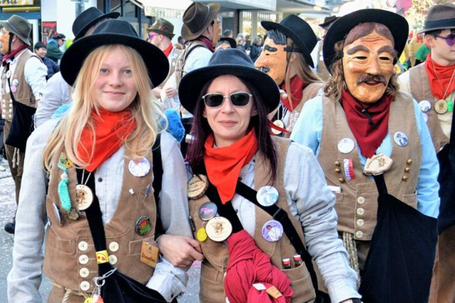
<path fill-rule="evenodd" d="M 151 97 L 168 60 L 127 21 L 109 19 L 68 48 L 60 69 L 75 87 L 73 106 L 28 140 L 9 302 L 41 302 L 42 272 L 53 285 L 48 302 L 102 302 L 95 284 L 124 290 L 109 282 L 116 276 L 105 270 L 113 267 L 154 289 L 147 290 L 160 302 L 176 302 L 188 280 L 185 267 L 202 255 L 185 255 L 198 247 L 187 220 L 186 170 L 178 143 L 161 132 L 164 115 Z M 158 233 L 166 235 L 157 245 Z M 170 255 L 163 246 L 169 239 Z M 105 272 L 110 280 L 94 282 Z"/>

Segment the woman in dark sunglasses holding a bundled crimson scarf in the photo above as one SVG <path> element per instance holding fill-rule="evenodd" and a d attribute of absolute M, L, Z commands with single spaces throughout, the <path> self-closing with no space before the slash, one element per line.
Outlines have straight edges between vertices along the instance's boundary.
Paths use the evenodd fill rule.
<path fill-rule="evenodd" d="M 269 133 L 274 80 L 242 51 L 220 50 L 182 78 L 179 95 L 194 115 L 188 198 L 205 257 L 200 302 L 313 302 L 311 257 L 332 302 L 357 302 L 319 164 L 306 147 Z"/>

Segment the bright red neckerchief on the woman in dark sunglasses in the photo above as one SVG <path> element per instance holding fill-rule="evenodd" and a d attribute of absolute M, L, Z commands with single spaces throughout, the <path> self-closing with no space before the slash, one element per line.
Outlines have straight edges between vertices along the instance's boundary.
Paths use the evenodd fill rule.
<path fill-rule="evenodd" d="M 225 204 L 235 194 L 242 167 L 247 165 L 257 152 L 255 129 L 228 147 L 213 147 L 214 143 L 215 138 L 210 134 L 204 144 L 205 169 L 210 183 L 218 189 L 221 202 Z"/>

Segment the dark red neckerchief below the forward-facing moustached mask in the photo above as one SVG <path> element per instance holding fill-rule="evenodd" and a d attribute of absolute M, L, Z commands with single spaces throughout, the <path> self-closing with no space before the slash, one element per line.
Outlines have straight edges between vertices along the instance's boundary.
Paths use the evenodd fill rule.
<path fill-rule="evenodd" d="M 360 151 L 367 158 L 375 154 L 376 149 L 387 136 L 392 99 L 391 95 L 383 95 L 377 102 L 367 105 L 355 100 L 349 92 L 343 90 L 341 104 L 346 113 L 349 128 L 354 134 Z M 370 124 L 370 120 L 362 112 L 363 109 L 368 111 L 375 127 Z"/>

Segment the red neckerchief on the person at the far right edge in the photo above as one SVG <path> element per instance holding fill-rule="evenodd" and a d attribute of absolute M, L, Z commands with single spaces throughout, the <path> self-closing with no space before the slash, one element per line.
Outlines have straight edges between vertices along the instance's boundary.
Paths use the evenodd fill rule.
<path fill-rule="evenodd" d="M 439 65 L 434 62 L 432 54 L 429 53 L 427 60 L 425 60 L 425 70 L 427 70 L 429 87 L 431 88 L 434 97 L 437 99 L 444 99 L 455 90 L 455 78 L 452 80 L 449 87 L 452 75 L 454 75 L 455 64 L 449 66 Z M 444 92 L 446 92 L 445 96 Z"/>

